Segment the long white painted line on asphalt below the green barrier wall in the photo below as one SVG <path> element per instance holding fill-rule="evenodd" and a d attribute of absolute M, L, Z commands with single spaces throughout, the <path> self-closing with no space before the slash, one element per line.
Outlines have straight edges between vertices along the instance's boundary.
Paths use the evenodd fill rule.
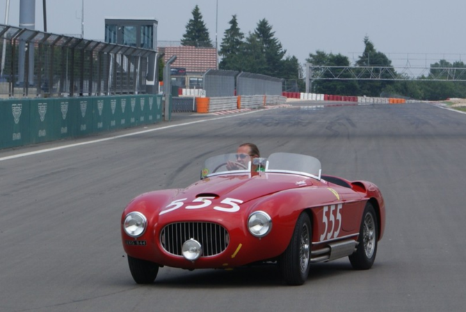
<path fill-rule="evenodd" d="M 143 131 L 137 131 L 137 132 L 132 132 L 132 133 L 127 133 L 127 134 L 121 134 L 119 136 L 111 136 L 109 138 L 102 138 L 102 139 L 97 139 L 97 140 L 89 140 L 86 142 L 81 142 L 81 143 L 73 143 L 69 145 L 63 145 L 60 147 L 52 147 L 49 149 L 40 149 L 38 151 L 29 151 L 28 153 L 22 153 L 22 154 L 16 154 L 16 155 L 11 155 L 11 156 L 6 156 L 6 157 L 1 157 L 0 161 L 8 161 L 9 159 L 15 159 L 15 158 L 21 158 L 21 157 L 26 157 L 26 156 L 33 156 L 37 154 L 43 154 L 43 153 L 48 153 L 50 151 L 58 151 L 60 149 L 69 149 L 71 147 L 78 147 L 81 145 L 88 145 L 88 144 L 94 144 L 94 143 L 99 143 L 99 142 L 105 142 L 109 140 L 116 140 L 119 138 L 126 138 L 129 136 L 137 136 L 138 134 L 141 133 L 149 133 L 149 132 L 154 132 L 154 131 L 160 131 L 160 130 L 165 130 L 165 129 L 170 129 L 170 128 L 176 128 L 178 126 L 189 126 L 191 124 L 199 124 L 201 122 L 210 122 L 214 120 L 222 120 L 225 118 L 231 118 L 231 117 L 236 117 L 236 116 L 241 116 L 241 115 L 247 115 L 247 114 L 252 114 L 252 113 L 257 113 L 260 110 L 251 110 L 246 113 L 239 113 L 239 114 L 234 114 L 234 115 L 227 115 L 227 116 L 222 116 L 222 117 L 215 117 L 207 120 L 196 120 L 195 122 L 184 122 L 183 124 L 172 124 L 170 126 L 162 126 L 161 128 L 156 128 L 156 129 L 148 129 L 148 130 L 143 130 Z M 50 141 L 54 142 L 54 141 Z"/>

